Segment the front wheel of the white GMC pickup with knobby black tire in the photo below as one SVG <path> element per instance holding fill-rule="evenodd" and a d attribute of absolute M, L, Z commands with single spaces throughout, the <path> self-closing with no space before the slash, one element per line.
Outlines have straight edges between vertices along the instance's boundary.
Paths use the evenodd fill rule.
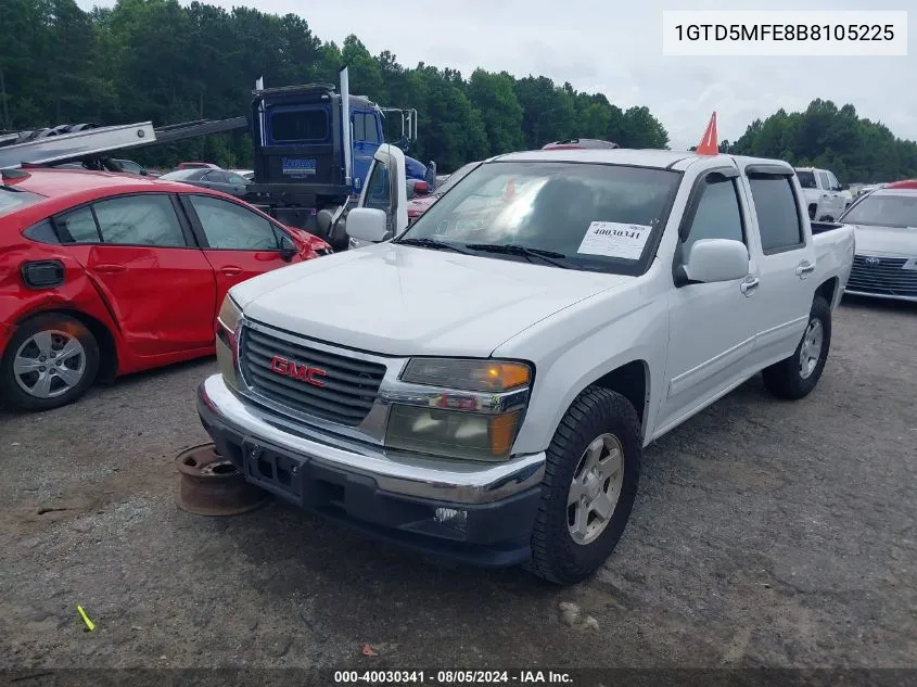
<path fill-rule="evenodd" d="M 601 567 L 631 517 L 641 458 L 634 406 L 599 386 L 583 391 L 548 447 L 532 535 L 535 575 L 574 584 Z"/>

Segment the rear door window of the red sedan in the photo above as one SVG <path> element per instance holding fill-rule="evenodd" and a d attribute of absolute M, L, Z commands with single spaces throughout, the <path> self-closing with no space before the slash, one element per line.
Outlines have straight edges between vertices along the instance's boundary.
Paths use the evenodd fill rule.
<path fill-rule="evenodd" d="M 130 195 L 95 203 L 105 243 L 184 247 L 184 234 L 167 195 Z"/>

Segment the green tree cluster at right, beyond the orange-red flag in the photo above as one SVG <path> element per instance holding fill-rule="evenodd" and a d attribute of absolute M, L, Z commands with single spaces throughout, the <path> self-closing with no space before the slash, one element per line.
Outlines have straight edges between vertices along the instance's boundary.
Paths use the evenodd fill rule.
<path fill-rule="evenodd" d="M 778 110 L 763 122 L 755 119 L 735 142 L 723 141 L 719 150 L 823 167 L 848 183 L 917 177 L 916 142 L 859 117 L 853 105 L 839 110 L 830 100 L 813 100 L 805 112 Z"/>

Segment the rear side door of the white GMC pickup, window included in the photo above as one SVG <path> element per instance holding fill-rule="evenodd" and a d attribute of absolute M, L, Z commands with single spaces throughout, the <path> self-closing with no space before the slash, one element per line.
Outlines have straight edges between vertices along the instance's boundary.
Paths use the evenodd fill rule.
<path fill-rule="evenodd" d="M 802 190 L 792 173 L 754 164 L 744 171 L 761 243 L 755 359 L 767 365 L 793 354 L 808 322 L 817 287 L 812 279 L 815 246 L 805 229 Z"/>

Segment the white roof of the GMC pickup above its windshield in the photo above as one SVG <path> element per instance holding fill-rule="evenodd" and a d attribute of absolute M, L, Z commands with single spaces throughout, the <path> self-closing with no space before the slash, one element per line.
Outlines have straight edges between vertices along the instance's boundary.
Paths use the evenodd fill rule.
<path fill-rule="evenodd" d="M 591 162 L 600 164 L 613 165 L 632 165 L 638 167 L 652 167 L 657 169 L 675 169 L 683 171 L 687 167 L 700 160 L 715 160 L 712 155 L 698 155 L 689 151 L 677 150 L 634 150 L 628 148 L 615 149 L 553 149 L 553 150 L 533 150 L 520 153 L 507 153 L 506 155 L 497 155 L 487 162 L 507 161 L 507 162 Z M 744 157 L 739 155 L 726 155 L 722 157 L 735 160 L 740 163 L 762 163 L 769 165 L 780 165 L 789 171 L 792 169 L 789 163 L 782 160 L 769 160 L 765 157 Z"/>

